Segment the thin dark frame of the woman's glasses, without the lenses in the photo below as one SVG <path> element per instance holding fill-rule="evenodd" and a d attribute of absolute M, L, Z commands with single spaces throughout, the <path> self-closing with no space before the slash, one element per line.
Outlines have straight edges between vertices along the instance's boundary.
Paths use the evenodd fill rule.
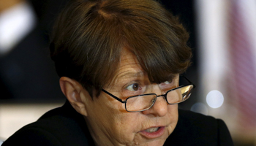
<path fill-rule="evenodd" d="M 156 93 L 146 93 L 146 94 L 141 94 L 141 95 L 138 95 L 138 96 L 129 96 L 127 99 L 125 99 L 125 100 L 123 101 L 122 99 L 119 99 L 118 97 L 114 96 L 112 93 L 109 93 L 108 91 L 105 91 L 104 89 L 102 89 L 102 91 L 105 92 L 105 93 L 107 93 L 109 96 L 113 97 L 114 99 L 120 101 L 122 104 L 125 104 L 125 106 L 124 106 L 124 107 L 125 107 L 125 110 L 127 110 L 127 100 L 128 100 L 128 99 L 131 99 L 131 98 L 134 98 L 134 97 L 139 97 L 139 96 L 155 95 L 156 98 L 155 98 L 155 100 L 154 100 L 154 103 L 157 101 L 157 97 L 163 96 L 163 97 L 165 98 L 165 101 L 167 102 L 167 104 L 169 104 L 168 101 L 167 101 L 167 93 L 169 93 L 170 91 L 175 91 L 175 90 L 178 89 L 178 88 L 183 88 L 183 87 L 188 86 L 188 85 L 193 85 L 193 88 L 195 88 L 195 84 L 193 84 L 187 77 L 185 77 L 185 76 L 183 76 L 183 75 L 180 75 L 180 77 L 184 77 L 184 79 L 187 80 L 187 81 L 189 82 L 189 84 L 180 85 L 180 86 L 178 86 L 177 88 L 170 89 L 170 90 L 167 91 L 165 94 L 162 94 L 162 95 L 159 95 L 159 96 L 157 96 Z M 193 89 L 193 88 L 192 88 L 192 89 Z M 187 98 L 187 99 L 189 99 L 189 98 Z M 187 99 L 186 99 L 186 100 L 187 100 Z M 186 101 L 186 100 L 183 100 L 183 101 Z M 180 101 L 180 102 L 177 102 L 177 103 L 174 103 L 174 104 L 179 104 L 179 103 L 181 103 L 181 102 L 183 102 L 183 101 Z M 147 109 L 145 109 L 145 110 L 149 110 L 151 107 L 153 107 L 153 106 L 154 106 L 154 103 L 153 103 L 150 107 L 148 107 Z M 129 110 L 127 110 L 127 112 L 142 112 L 142 111 L 145 111 L 145 110 L 138 110 L 138 111 L 129 111 Z"/>

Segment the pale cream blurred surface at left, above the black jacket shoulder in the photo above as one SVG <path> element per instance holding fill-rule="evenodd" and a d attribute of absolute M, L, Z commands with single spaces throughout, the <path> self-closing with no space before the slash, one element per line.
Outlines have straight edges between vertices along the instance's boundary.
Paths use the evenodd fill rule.
<path fill-rule="evenodd" d="M 62 104 L 0 104 L 0 139 L 7 139 L 21 127 Z"/>

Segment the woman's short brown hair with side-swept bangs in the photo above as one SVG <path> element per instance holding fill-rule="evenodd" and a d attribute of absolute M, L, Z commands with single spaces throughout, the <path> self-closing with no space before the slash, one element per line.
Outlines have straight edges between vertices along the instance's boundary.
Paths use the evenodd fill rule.
<path fill-rule="evenodd" d="M 170 80 L 190 64 L 189 35 L 154 0 L 72 1 L 53 28 L 51 58 L 59 77 L 70 77 L 89 91 L 108 84 L 121 50 L 128 48 L 151 82 Z"/>

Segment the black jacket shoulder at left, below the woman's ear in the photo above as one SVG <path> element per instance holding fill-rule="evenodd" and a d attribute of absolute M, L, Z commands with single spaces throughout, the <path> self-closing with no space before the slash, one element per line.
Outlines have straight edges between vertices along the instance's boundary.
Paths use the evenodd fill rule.
<path fill-rule="evenodd" d="M 3 146 L 9 145 L 89 145 L 91 136 L 83 116 L 72 107 L 59 107 L 39 120 L 20 128 Z"/>

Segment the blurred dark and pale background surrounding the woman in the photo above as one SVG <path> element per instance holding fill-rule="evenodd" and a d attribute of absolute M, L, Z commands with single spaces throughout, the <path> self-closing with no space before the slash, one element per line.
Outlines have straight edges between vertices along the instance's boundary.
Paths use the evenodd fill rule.
<path fill-rule="evenodd" d="M 64 104 L 48 43 L 69 0 L 0 1 L 0 139 Z M 179 108 L 225 120 L 235 145 L 256 145 L 256 1 L 162 0 L 189 31 L 197 88 Z"/>

